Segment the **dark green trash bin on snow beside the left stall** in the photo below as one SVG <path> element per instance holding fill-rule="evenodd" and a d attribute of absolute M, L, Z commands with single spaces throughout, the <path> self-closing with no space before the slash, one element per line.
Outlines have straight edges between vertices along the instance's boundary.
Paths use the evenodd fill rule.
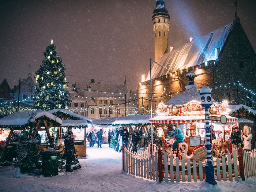
<path fill-rule="evenodd" d="M 42 173 L 45 177 L 59 174 L 59 154 L 57 150 L 42 151 Z"/>

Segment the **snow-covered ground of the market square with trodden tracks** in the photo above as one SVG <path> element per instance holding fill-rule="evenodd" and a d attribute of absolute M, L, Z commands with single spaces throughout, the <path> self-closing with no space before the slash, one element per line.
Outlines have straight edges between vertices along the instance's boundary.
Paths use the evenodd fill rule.
<path fill-rule="evenodd" d="M 20 174 L 13 166 L 0 167 L 0 191 L 6 192 L 62 192 L 62 191 L 256 191 L 256 177 L 240 182 L 206 182 L 165 184 L 148 181 L 122 173 L 121 153 L 108 145 L 102 148 L 87 147 L 87 159 L 79 159 L 82 168 L 73 173 L 61 172 L 58 176 L 30 176 Z"/>

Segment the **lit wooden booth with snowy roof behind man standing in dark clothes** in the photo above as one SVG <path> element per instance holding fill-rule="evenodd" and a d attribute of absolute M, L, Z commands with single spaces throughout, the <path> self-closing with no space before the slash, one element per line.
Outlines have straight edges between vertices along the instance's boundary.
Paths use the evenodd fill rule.
<path fill-rule="evenodd" d="M 86 128 L 92 120 L 88 117 L 81 116 L 74 112 L 65 109 L 53 109 L 49 113 L 61 118 L 62 123 L 59 127 L 59 145 L 64 144 L 63 136 L 68 131 L 74 133 L 76 155 L 79 157 L 86 157 Z"/>

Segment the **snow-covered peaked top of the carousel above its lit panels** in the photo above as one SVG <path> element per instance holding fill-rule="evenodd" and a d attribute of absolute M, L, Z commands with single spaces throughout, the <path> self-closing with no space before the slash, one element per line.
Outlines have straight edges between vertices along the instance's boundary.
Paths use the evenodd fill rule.
<path fill-rule="evenodd" d="M 166 105 L 168 106 L 185 105 L 186 103 L 192 100 L 196 100 L 200 102 L 201 101 L 200 98 L 201 97 L 199 94 L 199 90 L 197 89 L 197 86 L 187 85 L 186 90 L 183 93 L 171 98 L 169 101 L 167 101 Z M 215 101 L 213 98 L 212 98 L 212 103 L 215 105 L 219 105 L 219 103 Z"/>

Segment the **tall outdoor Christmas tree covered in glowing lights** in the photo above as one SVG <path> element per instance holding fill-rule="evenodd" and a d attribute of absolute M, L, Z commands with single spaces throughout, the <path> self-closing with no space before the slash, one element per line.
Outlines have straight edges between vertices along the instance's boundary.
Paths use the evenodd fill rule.
<path fill-rule="evenodd" d="M 35 98 L 34 106 L 39 110 L 68 109 L 67 80 L 65 78 L 65 66 L 57 55 L 56 46 L 51 44 L 44 52 L 45 59 L 37 72 L 35 72 Z"/>

